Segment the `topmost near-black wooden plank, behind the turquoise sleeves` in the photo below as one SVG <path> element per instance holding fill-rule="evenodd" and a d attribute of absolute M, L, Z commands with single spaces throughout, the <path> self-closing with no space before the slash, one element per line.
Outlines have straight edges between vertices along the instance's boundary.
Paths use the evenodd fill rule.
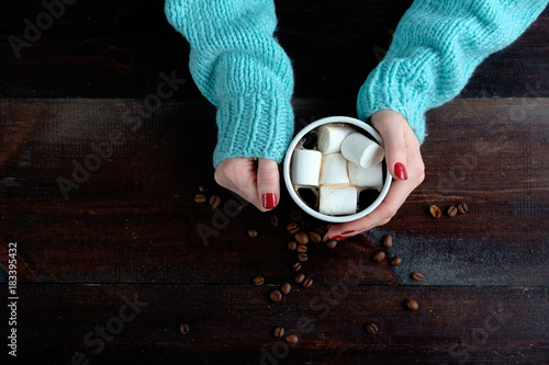
<path fill-rule="evenodd" d="M 278 38 L 295 68 L 296 98 L 355 100 L 389 47 L 410 7 L 391 1 L 277 1 Z M 160 72 L 190 79 L 189 46 L 167 23 L 164 0 L 78 1 L 16 58 L 11 35 L 24 36 L 42 2 L 20 0 L 0 12 L 0 95 L 3 98 L 144 98 Z M 549 9 L 512 46 L 477 70 L 466 98 L 549 96 Z M 201 98 L 197 88 L 179 99 Z"/>

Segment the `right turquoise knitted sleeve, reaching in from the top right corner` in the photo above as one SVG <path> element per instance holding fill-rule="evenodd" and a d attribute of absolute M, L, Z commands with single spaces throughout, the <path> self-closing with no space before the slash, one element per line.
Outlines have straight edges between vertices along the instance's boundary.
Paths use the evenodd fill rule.
<path fill-rule="evenodd" d="M 399 112 L 423 142 L 425 113 L 457 96 L 475 67 L 513 43 L 547 2 L 415 0 L 384 59 L 360 88 L 359 118 L 381 110 Z"/>

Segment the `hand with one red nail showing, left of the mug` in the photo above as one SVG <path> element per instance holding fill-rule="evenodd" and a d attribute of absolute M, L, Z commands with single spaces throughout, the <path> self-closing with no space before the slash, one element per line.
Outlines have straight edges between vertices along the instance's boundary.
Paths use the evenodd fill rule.
<path fill-rule="evenodd" d="M 233 158 L 222 161 L 215 169 L 215 181 L 267 212 L 278 204 L 280 176 L 274 160 Z"/>

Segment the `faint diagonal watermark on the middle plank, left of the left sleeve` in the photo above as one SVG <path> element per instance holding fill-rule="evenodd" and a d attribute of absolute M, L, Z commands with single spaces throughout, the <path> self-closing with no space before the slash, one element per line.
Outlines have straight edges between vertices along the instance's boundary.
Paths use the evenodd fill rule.
<path fill-rule="evenodd" d="M 124 111 L 122 115 L 123 128 L 112 129 L 102 142 L 91 142 L 90 149 L 92 152 L 88 153 L 82 161 L 72 160 L 72 174 L 70 178 L 57 178 L 57 185 L 65 199 L 69 198 L 72 190 L 78 190 L 88 182 L 91 173 L 98 171 L 103 162 L 110 161 L 114 149 L 123 146 L 127 141 L 127 136 L 137 132 L 143 122 L 150 118 L 153 113 L 163 106 L 163 102 L 171 98 L 187 82 L 184 79 L 178 79 L 175 70 L 171 71 L 170 76 L 160 72 L 160 79 L 163 81 L 156 87 L 156 93 L 145 96 L 143 105 L 139 105 L 137 110 L 128 107 Z"/>

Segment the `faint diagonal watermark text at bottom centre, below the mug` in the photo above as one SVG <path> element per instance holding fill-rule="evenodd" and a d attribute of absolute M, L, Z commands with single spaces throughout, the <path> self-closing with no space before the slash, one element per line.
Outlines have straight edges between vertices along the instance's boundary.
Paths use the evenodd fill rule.
<path fill-rule="evenodd" d="M 309 308 L 317 312 L 320 319 L 328 317 L 333 308 L 337 307 L 341 300 L 347 298 L 349 295 L 349 289 L 356 287 L 365 277 L 365 262 L 359 259 L 358 264 L 349 260 L 348 270 L 345 272 L 343 278 L 343 285 L 334 285 L 329 290 L 322 290 L 320 295 L 314 296 L 309 301 Z M 309 334 L 314 331 L 314 323 L 316 319 L 311 319 L 310 317 L 302 316 L 294 328 L 287 331 L 284 337 L 290 334 L 298 335 L 298 343 L 288 343 L 287 341 L 279 340 L 274 342 L 270 350 L 265 346 L 259 349 L 261 357 L 259 364 L 261 365 L 278 365 L 279 361 L 284 360 L 290 354 L 290 346 L 295 347 L 302 340 L 303 334 Z"/>

